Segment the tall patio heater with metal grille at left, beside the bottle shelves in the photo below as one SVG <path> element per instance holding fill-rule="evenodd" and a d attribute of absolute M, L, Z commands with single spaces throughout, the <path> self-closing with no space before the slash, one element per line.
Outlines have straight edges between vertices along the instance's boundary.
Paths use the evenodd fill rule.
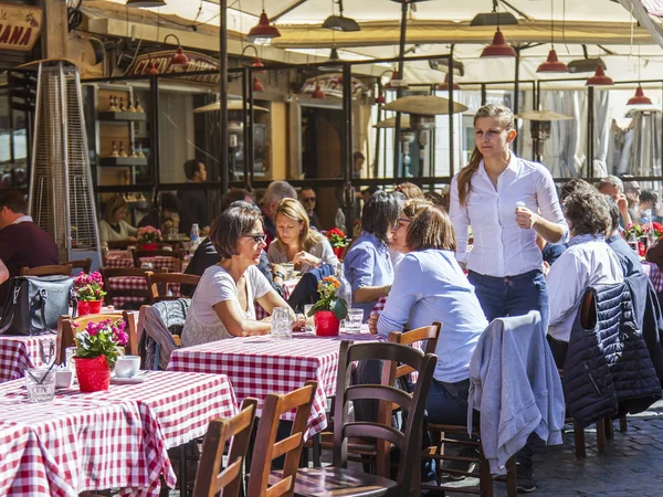
<path fill-rule="evenodd" d="M 61 261 L 101 265 L 78 68 L 63 60 L 36 63 L 36 106 L 29 214 L 55 240 Z"/>

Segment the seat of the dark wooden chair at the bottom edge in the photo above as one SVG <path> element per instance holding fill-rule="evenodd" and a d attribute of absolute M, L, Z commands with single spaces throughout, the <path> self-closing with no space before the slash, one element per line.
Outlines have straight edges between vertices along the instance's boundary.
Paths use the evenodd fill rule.
<path fill-rule="evenodd" d="M 379 497 L 398 495 L 398 490 L 391 479 L 330 466 L 299 468 L 295 484 L 295 495 L 302 497 Z"/>

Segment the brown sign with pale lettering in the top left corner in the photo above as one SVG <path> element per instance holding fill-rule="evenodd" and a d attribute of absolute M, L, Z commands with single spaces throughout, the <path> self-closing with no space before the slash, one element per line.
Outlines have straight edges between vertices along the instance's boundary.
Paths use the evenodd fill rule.
<path fill-rule="evenodd" d="M 32 50 L 41 27 L 39 7 L 0 3 L 0 50 Z"/>

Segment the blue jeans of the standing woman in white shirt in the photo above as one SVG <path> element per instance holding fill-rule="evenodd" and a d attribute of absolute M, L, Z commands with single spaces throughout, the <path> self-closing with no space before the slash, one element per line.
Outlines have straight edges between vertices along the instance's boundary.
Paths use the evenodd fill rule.
<path fill-rule="evenodd" d="M 495 277 L 471 271 L 467 279 L 474 286 L 488 321 L 538 310 L 544 329 L 548 329 L 548 286 L 543 272 L 535 269 L 516 276 Z"/>

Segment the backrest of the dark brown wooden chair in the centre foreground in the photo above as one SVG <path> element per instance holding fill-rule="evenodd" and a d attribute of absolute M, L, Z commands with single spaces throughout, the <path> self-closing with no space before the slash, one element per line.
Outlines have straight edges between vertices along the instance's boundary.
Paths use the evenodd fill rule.
<path fill-rule="evenodd" d="M 381 360 L 382 377 L 385 370 L 391 369 L 391 362 L 404 363 L 418 372 L 414 391 L 409 394 L 396 387 L 388 384 L 358 384 L 350 385 L 351 364 L 356 361 Z M 409 488 L 414 472 L 414 464 L 419 464 L 421 451 L 421 425 L 425 399 L 433 379 L 433 371 L 438 358 L 408 346 L 389 342 L 359 342 L 344 340 L 340 345 L 338 357 L 338 374 L 336 383 L 336 405 L 334 410 L 334 466 L 347 467 L 348 438 L 354 436 L 376 438 L 378 446 L 391 443 L 400 448 L 400 464 L 398 484 Z M 408 412 L 403 432 L 391 426 L 391 416 L 385 419 L 386 408 L 377 423 L 348 422 L 349 403 L 355 400 L 375 399 L 381 405 L 400 405 Z M 391 411 L 389 411 L 389 414 Z M 378 474 L 385 476 L 386 468 L 380 469 L 377 461 Z M 382 463 L 383 464 L 383 463 Z M 399 494 L 400 495 L 400 494 Z"/>

